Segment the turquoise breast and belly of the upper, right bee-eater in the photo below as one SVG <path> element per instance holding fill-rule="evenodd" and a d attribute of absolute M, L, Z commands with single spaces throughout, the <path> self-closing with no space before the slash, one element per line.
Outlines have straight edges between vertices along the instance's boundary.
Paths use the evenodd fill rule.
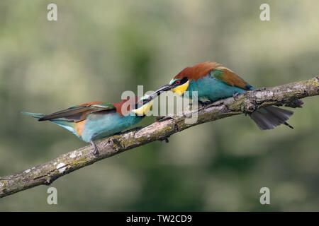
<path fill-rule="evenodd" d="M 206 76 L 198 79 L 197 81 L 191 80 L 187 91 L 189 91 L 190 97 L 196 95 L 195 93 L 192 93 L 193 91 L 197 91 L 198 100 L 203 101 L 203 99 L 207 99 L 210 101 L 216 101 L 227 97 L 232 97 L 235 93 L 245 93 L 247 90 L 238 88 L 236 86 L 227 85 L 216 78 Z"/>

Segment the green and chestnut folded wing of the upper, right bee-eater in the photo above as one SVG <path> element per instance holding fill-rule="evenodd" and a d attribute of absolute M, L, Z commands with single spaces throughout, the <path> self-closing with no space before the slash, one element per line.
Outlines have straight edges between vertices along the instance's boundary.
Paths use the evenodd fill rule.
<path fill-rule="evenodd" d="M 216 69 L 211 71 L 211 76 L 227 85 L 236 86 L 244 90 L 250 90 L 252 88 L 252 85 L 240 78 L 240 76 L 237 76 L 237 74 L 230 69 L 223 66 L 218 66 Z"/>

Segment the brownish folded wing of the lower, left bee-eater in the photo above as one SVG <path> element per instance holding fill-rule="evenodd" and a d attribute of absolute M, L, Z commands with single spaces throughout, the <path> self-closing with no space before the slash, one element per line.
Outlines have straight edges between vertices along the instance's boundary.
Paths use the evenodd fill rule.
<path fill-rule="evenodd" d="M 39 121 L 65 119 L 67 121 L 79 122 L 86 119 L 88 114 L 113 109 L 115 109 L 115 107 L 110 103 L 105 103 L 101 101 L 87 102 L 82 105 L 69 107 L 68 109 L 64 109 L 59 112 L 47 114 L 45 115 L 45 117 L 40 118 Z"/>

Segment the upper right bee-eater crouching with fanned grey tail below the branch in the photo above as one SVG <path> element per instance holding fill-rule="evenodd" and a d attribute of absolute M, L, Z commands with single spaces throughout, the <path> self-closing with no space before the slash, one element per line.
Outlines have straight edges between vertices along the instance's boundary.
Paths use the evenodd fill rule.
<path fill-rule="evenodd" d="M 186 67 L 167 85 L 163 85 L 152 93 L 152 96 L 160 95 L 168 90 L 180 96 L 189 91 L 189 98 L 192 98 L 192 92 L 196 91 L 198 102 L 208 104 L 227 97 L 236 98 L 237 95 L 255 88 L 225 66 L 206 61 Z M 269 106 L 257 109 L 250 114 L 250 117 L 261 130 L 274 129 L 281 124 L 293 129 L 286 122 L 292 114 L 293 112 L 287 109 Z"/>

